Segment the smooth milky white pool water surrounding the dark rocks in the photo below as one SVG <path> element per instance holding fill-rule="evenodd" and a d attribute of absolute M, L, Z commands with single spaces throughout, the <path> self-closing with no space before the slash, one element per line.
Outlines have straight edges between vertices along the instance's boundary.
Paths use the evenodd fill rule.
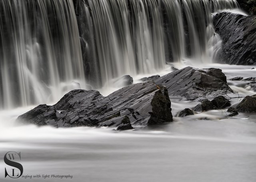
<path fill-rule="evenodd" d="M 212 64 L 202 67 L 222 68 L 228 79 L 252 77 L 256 72 L 250 66 Z M 255 94 L 245 87 L 238 87 L 238 82 L 244 81 L 228 81 L 240 96 Z M 197 104 L 179 97 L 170 99 L 174 116 Z M 232 99 L 232 104 L 238 102 L 239 99 Z M 138 127 L 124 132 L 115 132 L 112 128 L 14 126 L 16 117 L 32 108 L 0 112 L 0 160 L 8 151 L 21 151 L 24 175 L 73 175 L 69 180 L 39 178 L 37 182 L 256 180 L 254 114 L 240 113 L 225 119 L 226 110 L 213 110 L 185 118 L 174 117 L 174 122 L 166 125 Z M 201 119 L 205 117 L 211 120 Z M 4 167 L 0 163 L 0 168 Z M 12 181 L 3 178 L 3 172 L 0 170 L 0 180 Z"/>

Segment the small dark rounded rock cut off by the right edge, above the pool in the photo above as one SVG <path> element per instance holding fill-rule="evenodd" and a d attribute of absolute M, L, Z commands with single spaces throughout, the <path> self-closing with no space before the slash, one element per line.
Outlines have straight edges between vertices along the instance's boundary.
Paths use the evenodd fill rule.
<path fill-rule="evenodd" d="M 238 112 L 256 113 L 256 95 L 246 96 L 237 106 Z"/>

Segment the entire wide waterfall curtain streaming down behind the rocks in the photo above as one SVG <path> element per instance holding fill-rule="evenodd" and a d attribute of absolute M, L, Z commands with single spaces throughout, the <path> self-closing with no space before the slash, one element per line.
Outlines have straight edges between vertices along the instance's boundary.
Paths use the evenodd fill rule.
<path fill-rule="evenodd" d="M 235 0 L 0 0 L 0 108 L 55 102 L 221 47 L 212 12 Z"/>

